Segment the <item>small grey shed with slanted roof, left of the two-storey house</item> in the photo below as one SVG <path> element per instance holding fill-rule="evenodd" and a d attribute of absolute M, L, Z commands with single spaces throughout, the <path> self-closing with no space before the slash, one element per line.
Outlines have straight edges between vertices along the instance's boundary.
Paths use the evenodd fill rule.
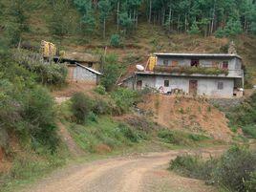
<path fill-rule="evenodd" d="M 79 63 L 68 65 L 69 74 L 68 80 L 76 82 L 88 82 L 92 84 L 98 84 L 101 73 L 96 70 L 81 65 Z"/>

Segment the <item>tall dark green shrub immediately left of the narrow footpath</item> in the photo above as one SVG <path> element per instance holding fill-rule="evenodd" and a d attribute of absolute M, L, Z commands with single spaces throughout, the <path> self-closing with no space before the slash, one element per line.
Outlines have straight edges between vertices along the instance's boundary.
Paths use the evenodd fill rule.
<path fill-rule="evenodd" d="M 53 97 L 40 86 L 36 87 L 26 98 L 24 119 L 30 129 L 32 143 L 39 142 L 48 145 L 52 150 L 58 143 L 57 127 L 55 125 Z"/>

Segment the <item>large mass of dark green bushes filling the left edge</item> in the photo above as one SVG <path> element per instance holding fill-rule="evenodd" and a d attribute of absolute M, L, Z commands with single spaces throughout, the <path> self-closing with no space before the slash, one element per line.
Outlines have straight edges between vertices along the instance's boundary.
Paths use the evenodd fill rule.
<path fill-rule="evenodd" d="M 35 149 L 44 145 L 54 151 L 58 144 L 54 102 L 52 96 L 40 86 L 16 81 L 2 81 L 0 89 L 0 120 L 4 129 L 30 142 Z"/>

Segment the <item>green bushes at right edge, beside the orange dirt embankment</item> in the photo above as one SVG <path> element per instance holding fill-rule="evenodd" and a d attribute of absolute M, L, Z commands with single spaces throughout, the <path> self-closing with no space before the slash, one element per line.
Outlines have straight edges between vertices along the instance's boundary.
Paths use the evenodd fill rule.
<path fill-rule="evenodd" d="M 256 139 L 256 93 L 238 107 L 230 109 L 226 116 L 233 130 L 241 127 L 246 136 Z"/>

